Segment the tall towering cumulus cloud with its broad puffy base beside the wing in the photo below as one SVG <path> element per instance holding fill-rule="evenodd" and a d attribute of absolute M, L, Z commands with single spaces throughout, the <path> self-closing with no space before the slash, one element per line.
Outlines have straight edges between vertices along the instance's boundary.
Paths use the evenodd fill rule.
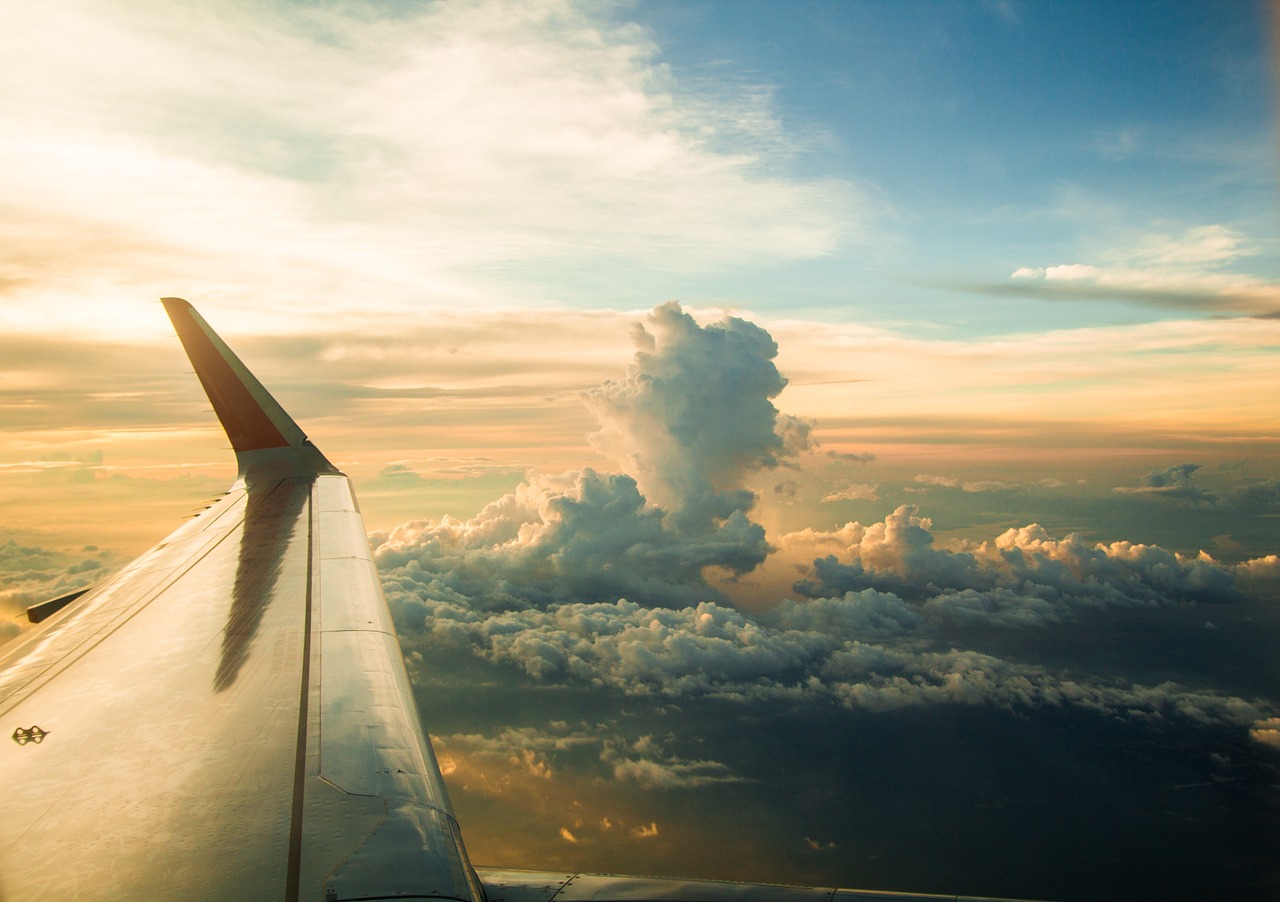
<path fill-rule="evenodd" d="M 620 597 L 680 606 L 723 600 L 708 568 L 741 574 L 764 560 L 742 480 L 809 441 L 808 425 L 772 403 L 786 385 L 777 345 L 735 317 L 700 326 L 675 303 L 635 336 L 626 377 L 585 395 L 600 422 L 591 440 L 623 472 L 534 476 L 466 522 L 374 536 L 394 597 L 490 610 Z"/>

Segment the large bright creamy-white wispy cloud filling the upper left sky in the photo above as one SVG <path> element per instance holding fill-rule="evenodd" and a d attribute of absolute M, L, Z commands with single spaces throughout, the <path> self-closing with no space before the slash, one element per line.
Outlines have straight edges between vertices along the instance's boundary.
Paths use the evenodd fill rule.
<path fill-rule="evenodd" d="M 498 261 L 696 269 L 861 232 L 861 188 L 790 173 L 805 148 L 767 91 L 677 82 L 617 12 L 6 8 L 6 325 L 60 316 L 50 298 L 74 325 L 91 296 L 132 328 L 129 298 L 178 281 L 270 296 L 260 321 L 315 293 L 410 310 Z"/>

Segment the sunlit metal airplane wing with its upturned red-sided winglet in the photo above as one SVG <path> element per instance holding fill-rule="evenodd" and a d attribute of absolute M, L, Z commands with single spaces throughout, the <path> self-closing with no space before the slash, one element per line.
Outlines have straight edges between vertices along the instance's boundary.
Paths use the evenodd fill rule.
<path fill-rule="evenodd" d="M 0 649 L 0 902 L 955 898 L 477 875 L 351 484 L 191 305 L 164 306 L 238 477 Z"/>

